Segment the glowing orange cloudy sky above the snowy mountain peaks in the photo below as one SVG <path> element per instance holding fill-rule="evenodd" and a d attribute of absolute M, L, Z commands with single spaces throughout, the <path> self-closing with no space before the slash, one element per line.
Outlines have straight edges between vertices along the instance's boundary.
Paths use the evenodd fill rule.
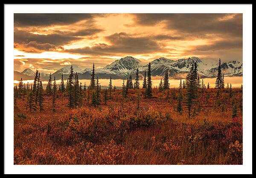
<path fill-rule="evenodd" d="M 242 61 L 242 14 L 14 14 L 14 70 L 105 67 L 132 56 Z"/>

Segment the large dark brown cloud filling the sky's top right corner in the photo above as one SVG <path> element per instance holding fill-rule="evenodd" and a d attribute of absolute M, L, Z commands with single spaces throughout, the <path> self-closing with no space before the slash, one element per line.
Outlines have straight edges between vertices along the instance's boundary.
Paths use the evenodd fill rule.
<path fill-rule="evenodd" d="M 230 34 L 242 36 L 242 14 L 134 14 L 134 23 L 156 25 L 166 22 L 166 28 L 177 33 Z"/>

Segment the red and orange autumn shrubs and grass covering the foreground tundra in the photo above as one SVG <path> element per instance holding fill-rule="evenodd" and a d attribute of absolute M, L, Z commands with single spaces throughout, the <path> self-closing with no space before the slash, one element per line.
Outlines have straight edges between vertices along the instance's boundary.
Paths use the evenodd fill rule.
<path fill-rule="evenodd" d="M 192 119 L 184 107 L 177 113 L 172 89 L 167 100 L 167 91 L 153 90 L 152 99 L 142 96 L 139 111 L 137 91 L 131 90 L 125 101 L 121 92 L 116 90 L 107 105 L 73 110 L 60 95 L 55 111 L 47 96 L 41 113 L 29 112 L 26 99 L 18 99 L 14 164 L 242 164 L 241 110 L 231 117 L 232 102 L 241 101 L 240 89 L 233 89 L 233 101 L 222 90 L 220 105 L 215 89 L 204 91 L 201 110 Z"/>

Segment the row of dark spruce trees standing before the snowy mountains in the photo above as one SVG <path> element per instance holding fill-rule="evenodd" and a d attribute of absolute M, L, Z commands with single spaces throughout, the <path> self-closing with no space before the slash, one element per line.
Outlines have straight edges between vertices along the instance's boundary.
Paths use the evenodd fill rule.
<path fill-rule="evenodd" d="M 151 63 L 148 63 L 147 71 L 144 71 L 144 79 L 142 84 L 143 94 L 145 98 L 151 98 L 152 95 L 152 80 L 151 80 Z M 175 94 L 175 88 L 172 90 L 171 97 L 173 99 L 177 99 L 177 111 L 179 113 L 182 113 L 182 111 L 186 108 L 188 117 L 195 116 L 198 112 L 198 96 L 200 92 L 204 92 L 204 90 L 209 89 L 209 82 L 207 86 L 204 84 L 204 79 L 200 79 L 198 74 L 198 64 L 195 62 L 192 64 L 189 73 L 186 76 L 186 79 L 182 80 L 180 79 L 180 85 L 178 87 L 178 96 L 176 97 Z M 217 90 L 217 97 L 219 96 L 219 90 L 224 88 L 224 73 L 221 72 L 221 59 L 219 59 L 218 62 L 218 70 L 217 70 L 217 77 L 215 82 L 215 88 Z M 233 96 L 232 94 L 232 85 L 231 83 L 227 83 L 227 87 L 229 90 L 230 98 Z M 122 82 L 122 97 L 123 99 L 128 97 L 128 91 L 130 89 L 140 89 L 140 82 L 139 82 L 139 70 L 137 68 L 135 72 L 134 82 L 132 79 L 132 75 L 130 74 L 127 77 L 126 84 L 125 79 L 123 79 Z M 166 92 L 166 101 L 169 99 L 169 74 L 168 70 L 165 71 L 163 79 L 160 79 L 160 83 L 158 86 L 159 91 L 165 91 Z M 184 96 L 182 90 L 184 90 Z M 242 89 L 242 85 L 241 85 Z M 65 85 L 63 74 L 61 75 L 61 83 L 59 85 L 59 88 L 57 90 L 56 85 L 56 79 L 54 76 L 54 79 L 52 81 L 52 75 L 49 74 L 49 80 L 46 86 L 46 90 L 44 90 L 42 86 L 42 81 L 40 79 L 40 72 L 37 70 L 35 73 L 35 79 L 33 84 L 29 85 L 29 83 L 24 84 L 22 81 L 22 78 L 19 81 L 18 86 L 16 85 L 14 88 L 14 103 L 15 107 L 17 105 L 17 98 L 20 98 L 22 96 L 27 97 L 27 107 L 29 110 L 44 110 L 44 96 L 51 96 L 51 104 L 52 104 L 52 110 L 55 110 L 55 102 L 57 98 L 57 93 L 60 93 L 61 96 L 67 96 L 68 98 L 68 107 L 70 108 L 76 108 L 80 107 L 82 105 L 91 105 L 91 106 L 98 106 L 101 105 L 102 101 L 104 104 L 107 103 L 109 99 L 113 100 L 113 93 L 116 90 L 116 86 L 113 86 L 112 84 L 112 77 L 110 76 L 110 81 L 108 88 L 104 90 L 104 92 L 101 92 L 102 88 L 99 83 L 98 76 L 95 74 L 95 65 L 93 63 L 92 73 L 91 73 L 91 79 L 90 84 L 86 86 L 82 85 L 81 82 L 79 82 L 79 74 L 77 72 L 74 72 L 73 65 L 70 66 L 70 73 L 67 79 L 67 83 Z M 103 93 L 103 97 L 102 94 Z M 139 109 L 140 105 L 140 92 L 138 90 L 137 92 L 137 107 Z M 184 105 L 184 108 L 183 108 Z M 234 107 L 234 110 L 236 107 Z"/>

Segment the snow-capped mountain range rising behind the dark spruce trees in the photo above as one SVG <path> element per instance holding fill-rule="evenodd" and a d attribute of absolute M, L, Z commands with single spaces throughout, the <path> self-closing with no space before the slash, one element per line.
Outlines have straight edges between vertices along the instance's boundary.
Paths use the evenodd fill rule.
<path fill-rule="evenodd" d="M 192 64 L 197 62 L 198 73 L 201 78 L 215 77 L 218 71 L 218 62 L 216 64 L 210 64 L 202 61 L 198 57 L 189 57 L 187 59 L 172 60 L 164 57 L 154 59 L 151 61 L 151 75 L 152 76 L 163 76 L 165 71 L 168 70 L 169 77 L 173 79 L 180 79 L 182 75 L 189 72 Z M 137 68 L 140 72 L 140 78 L 143 78 L 144 71 L 147 71 L 147 65 L 141 65 L 141 61 L 131 56 L 127 56 L 112 62 L 110 65 L 104 68 L 95 69 L 95 74 L 99 79 L 108 79 L 110 76 L 112 79 L 123 79 L 127 78 L 130 74 L 134 76 Z M 78 66 L 73 65 L 74 72 L 79 73 L 79 79 L 90 79 L 92 68 L 85 68 L 84 70 Z M 243 75 L 243 63 L 239 61 L 222 62 L 221 64 L 222 73 L 224 76 L 242 76 Z M 63 78 L 67 79 L 70 72 L 70 65 L 65 66 L 52 73 L 56 79 Z M 23 72 L 14 71 L 14 79 L 34 79 L 35 72 L 27 68 Z M 49 74 L 41 73 L 41 79 L 47 80 Z"/>

